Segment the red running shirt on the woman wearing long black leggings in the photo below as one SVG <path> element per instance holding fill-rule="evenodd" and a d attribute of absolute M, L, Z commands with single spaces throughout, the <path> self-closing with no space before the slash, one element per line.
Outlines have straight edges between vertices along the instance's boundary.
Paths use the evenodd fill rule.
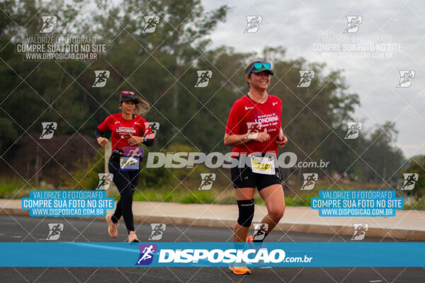
<path fill-rule="evenodd" d="M 112 150 L 123 150 L 123 146 L 130 146 L 128 139 L 131 136 L 145 137 L 149 134 L 145 131 L 145 122 L 146 120 L 138 115 L 135 115 L 132 120 L 125 120 L 122 113 L 117 113 L 106 117 L 105 121 L 98 125 L 98 130 L 101 132 L 112 131 Z"/>

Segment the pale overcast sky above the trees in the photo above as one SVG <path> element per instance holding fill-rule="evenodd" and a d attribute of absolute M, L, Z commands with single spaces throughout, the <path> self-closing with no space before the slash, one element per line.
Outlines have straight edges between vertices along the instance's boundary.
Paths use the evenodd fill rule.
<path fill-rule="evenodd" d="M 307 62 L 326 63 L 326 71 L 344 69 L 348 91 L 360 97 L 354 117 L 363 122 L 362 131 L 395 122 L 399 131 L 395 146 L 404 156 L 425 154 L 424 2 L 202 2 L 205 11 L 225 4 L 231 8 L 227 21 L 212 32 L 210 48 L 226 45 L 236 52 L 260 53 L 264 47 L 281 45 L 286 48 L 286 59 L 304 57 Z M 247 16 L 261 16 L 256 33 L 244 33 Z M 347 16 L 360 16 L 356 32 L 351 28 L 344 33 Z M 380 52 L 375 51 L 378 47 Z M 400 70 L 414 71 L 414 78 L 402 84 L 406 87 L 397 88 Z"/>

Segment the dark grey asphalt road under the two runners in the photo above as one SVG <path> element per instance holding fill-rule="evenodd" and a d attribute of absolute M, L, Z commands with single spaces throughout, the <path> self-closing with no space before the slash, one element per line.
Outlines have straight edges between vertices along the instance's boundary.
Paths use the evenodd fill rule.
<path fill-rule="evenodd" d="M 120 225 L 118 239 L 106 231 L 105 221 L 72 218 L 35 218 L 0 215 L 0 241 L 46 241 L 48 224 L 64 224 L 58 241 L 125 241 Z M 149 224 L 136 224 L 140 241 L 148 241 Z M 231 229 L 167 225 L 161 241 L 231 241 Z M 351 241 L 350 236 L 273 231 L 267 241 Z M 363 241 L 381 241 L 368 238 Z M 394 241 L 394 240 L 385 240 Z M 397 240 L 398 241 L 398 240 Z M 1 255 L 0 256 L 7 256 Z M 349 256 L 349 255 L 347 255 Z M 234 275 L 226 267 L 7 267 L 0 282 L 424 282 L 425 268 L 404 267 L 272 267 L 251 269 L 251 275 Z"/>

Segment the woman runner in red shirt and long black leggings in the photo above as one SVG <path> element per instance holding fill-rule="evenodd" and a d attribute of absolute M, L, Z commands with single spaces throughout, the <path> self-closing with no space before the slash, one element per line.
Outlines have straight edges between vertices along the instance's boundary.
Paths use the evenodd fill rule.
<path fill-rule="evenodd" d="M 146 133 L 146 120 L 139 115 L 144 114 L 149 110 L 149 103 L 140 97 L 135 96 L 131 91 L 123 91 L 120 94 L 120 113 L 109 115 L 98 125 L 95 130 L 95 136 L 98 144 L 105 146 L 108 139 L 102 137 L 104 132 L 111 131 L 112 155 L 109 158 L 108 169 L 109 173 L 113 174 L 113 183 L 120 192 L 120 200 L 117 202 L 115 213 L 106 215 L 108 223 L 108 233 L 112 238 L 118 236 L 118 220 L 123 216 L 125 227 L 128 231 L 128 241 L 138 242 L 135 226 L 133 223 L 132 214 L 132 196 L 135 192 L 135 187 L 139 181 L 140 166 L 132 168 L 132 170 L 123 170 L 125 164 L 125 153 L 123 147 L 131 150 L 131 146 L 137 151 L 137 144 L 144 143 L 147 146 L 152 146 L 154 139 L 152 133 Z M 150 128 L 148 127 L 148 130 Z M 145 135 L 145 133 L 148 135 Z M 126 150 L 124 150 L 126 151 Z M 136 157 L 138 163 L 139 158 Z M 124 161 L 124 163 L 123 163 Z M 132 158 L 132 161 L 135 161 Z"/>

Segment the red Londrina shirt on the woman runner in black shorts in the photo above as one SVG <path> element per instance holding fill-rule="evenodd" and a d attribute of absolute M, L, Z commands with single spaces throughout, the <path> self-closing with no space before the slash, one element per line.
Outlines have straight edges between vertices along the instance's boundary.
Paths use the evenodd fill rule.
<path fill-rule="evenodd" d="M 279 134 L 281 117 L 282 102 L 276 96 L 269 94 L 265 103 L 256 103 L 249 96 L 236 100 L 227 119 L 226 134 L 266 132 L 270 134 L 270 139 L 265 142 L 250 141 L 234 146 L 233 152 L 239 154 L 261 152 L 277 155 L 278 146 L 275 141 Z"/>

